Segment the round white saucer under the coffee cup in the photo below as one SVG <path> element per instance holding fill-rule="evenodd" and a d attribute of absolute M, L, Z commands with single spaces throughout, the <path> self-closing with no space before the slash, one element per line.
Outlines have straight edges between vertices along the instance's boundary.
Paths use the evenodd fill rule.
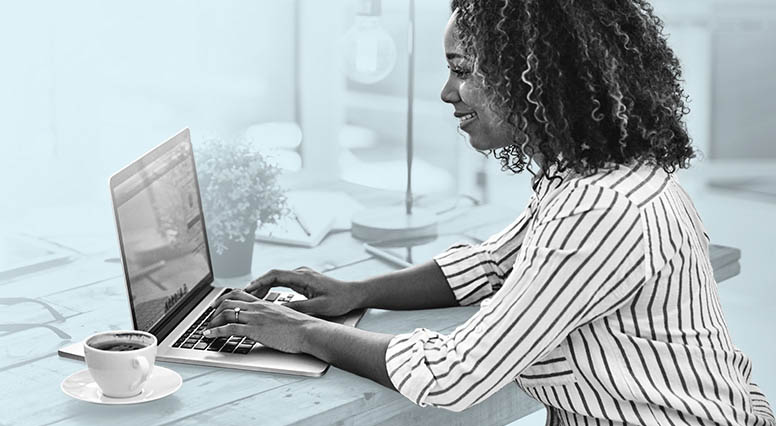
<path fill-rule="evenodd" d="M 89 370 L 81 370 L 70 375 L 62 381 L 60 388 L 62 392 L 81 401 L 92 402 L 94 404 L 139 404 L 142 402 L 154 401 L 164 398 L 167 395 L 180 389 L 183 384 L 181 376 L 164 367 L 154 366 L 154 371 L 148 377 L 143 385 L 143 391 L 135 396 L 127 398 L 111 398 L 102 394 L 100 387 L 94 382 Z"/>

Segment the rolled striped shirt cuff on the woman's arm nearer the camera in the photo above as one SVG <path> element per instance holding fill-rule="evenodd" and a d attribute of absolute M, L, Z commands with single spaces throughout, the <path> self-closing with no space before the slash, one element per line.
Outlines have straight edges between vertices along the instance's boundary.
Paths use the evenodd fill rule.
<path fill-rule="evenodd" d="M 423 400 L 434 382 L 434 375 L 426 364 L 425 345 L 439 337 L 438 333 L 419 328 L 395 336 L 385 352 L 385 365 L 391 383 L 399 393 L 421 407 L 428 405 Z"/>

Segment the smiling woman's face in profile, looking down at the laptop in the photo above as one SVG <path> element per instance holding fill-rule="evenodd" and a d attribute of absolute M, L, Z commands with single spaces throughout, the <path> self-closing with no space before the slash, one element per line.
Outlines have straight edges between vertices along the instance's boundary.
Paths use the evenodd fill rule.
<path fill-rule="evenodd" d="M 458 11 L 453 12 L 445 28 L 445 56 L 450 73 L 442 88 L 442 101 L 455 108 L 459 126 L 469 134 L 469 143 L 475 149 L 487 151 L 505 147 L 512 143 L 513 131 L 486 105 L 482 84 L 472 74 L 472 58 L 464 54 L 458 40 L 457 14 Z"/>

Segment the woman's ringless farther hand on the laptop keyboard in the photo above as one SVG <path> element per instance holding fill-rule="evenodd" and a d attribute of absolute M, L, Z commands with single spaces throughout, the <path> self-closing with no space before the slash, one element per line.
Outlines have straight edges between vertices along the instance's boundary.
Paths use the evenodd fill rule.
<path fill-rule="evenodd" d="M 305 266 L 292 271 L 273 269 L 251 281 L 245 291 L 264 298 L 272 287 L 288 287 L 307 297 L 307 300 L 288 302 L 285 306 L 310 315 L 334 317 L 361 307 L 357 286 Z"/>

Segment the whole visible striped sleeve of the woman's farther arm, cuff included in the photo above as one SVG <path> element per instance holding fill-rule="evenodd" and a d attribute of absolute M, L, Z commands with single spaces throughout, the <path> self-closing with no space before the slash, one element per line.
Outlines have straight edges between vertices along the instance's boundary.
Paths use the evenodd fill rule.
<path fill-rule="evenodd" d="M 489 297 L 512 272 L 523 243 L 530 206 L 513 223 L 481 244 L 462 244 L 434 257 L 458 304 L 473 305 Z"/>

